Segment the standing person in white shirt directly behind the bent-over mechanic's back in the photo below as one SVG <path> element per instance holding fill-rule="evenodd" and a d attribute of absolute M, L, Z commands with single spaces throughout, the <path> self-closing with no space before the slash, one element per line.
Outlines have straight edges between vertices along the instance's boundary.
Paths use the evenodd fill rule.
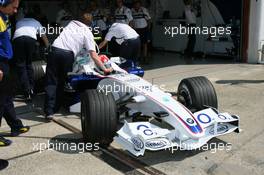
<path fill-rule="evenodd" d="M 115 22 L 132 25 L 132 12 L 124 6 L 124 0 L 116 0 L 117 9 L 115 10 Z"/>

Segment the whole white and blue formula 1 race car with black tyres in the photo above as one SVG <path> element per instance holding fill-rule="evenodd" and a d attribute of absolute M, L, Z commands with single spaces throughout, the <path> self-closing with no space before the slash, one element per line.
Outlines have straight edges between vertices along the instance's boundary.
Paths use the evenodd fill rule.
<path fill-rule="evenodd" d="M 217 110 L 215 89 L 205 77 L 181 81 L 176 96 L 144 80 L 144 71 L 120 57 L 103 73 L 93 62 L 75 65 L 66 92 L 75 94 L 70 111 L 81 113 L 85 142 L 113 140 L 134 156 L 172 147 L 193 150 L 210 139 L 239 132 L 239 117 Z M 177 100 L 176 100 L 177 98 Z"/>

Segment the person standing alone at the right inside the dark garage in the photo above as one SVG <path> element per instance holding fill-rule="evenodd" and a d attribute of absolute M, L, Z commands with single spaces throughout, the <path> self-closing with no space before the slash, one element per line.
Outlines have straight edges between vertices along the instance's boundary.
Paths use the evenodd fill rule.
<path fill-rule="evenodd" d="M 188 28 L 195 28 L 196 27 L 196 14 L 194 12 L 194 9 L 192 7 L 192 1 L 191 0 L 183 0 L 185 4 L 184 12 L 185 12 L 185 19 L 186 23 L 188 25 Z M 188 35 L 188 44 L 187 48 L 184 51 L 184 54 L 187 57 L 192 57 L 195 44 L 196 44 L 196 34 L 195 30 L 190 30 L 190 34 Z"/>

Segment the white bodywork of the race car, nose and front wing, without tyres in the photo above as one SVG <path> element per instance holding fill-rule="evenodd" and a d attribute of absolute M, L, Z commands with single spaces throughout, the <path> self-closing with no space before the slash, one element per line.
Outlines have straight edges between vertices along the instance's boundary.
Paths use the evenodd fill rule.
<path fill-rule="evenodd" d="M 141 112 L 144 116 L 161 121 L 124 120 L 124 125 L 114 140 L 133 155 L 143 156 L 146 150 L 158 151 L 175 146 L 193 150 L 213 137 L 239 131 L 238 116 L 219 113 L 211 108 L 192 113 L 171 94 L 136 75 L 126 73 L 113 62 L 112 66 L 120 73 L 104 77 L 94 72 L 90 66 L 84 65 L 83 70 L 103 77 L 98 90 L 113 93 L 116 101 L 129 94 L 132 100 L 126 107 L 131 113 Z M 80 104 L 72 106 L 70 110 L 80 112 Z"/>

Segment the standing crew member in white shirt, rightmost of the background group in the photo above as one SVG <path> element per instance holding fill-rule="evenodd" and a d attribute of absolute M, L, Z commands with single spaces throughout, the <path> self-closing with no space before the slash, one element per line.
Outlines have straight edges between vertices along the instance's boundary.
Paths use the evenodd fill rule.
<path fill-rule="evenodd" d="M 132 9 L 133 27 L 140 35 L 141 44 L 143 47 L 143 62 L 148 63 L 148 32 L 150 32 L 150 15 L 146 8 L 142 7 L 141 1 L 134 2 Z"/>

